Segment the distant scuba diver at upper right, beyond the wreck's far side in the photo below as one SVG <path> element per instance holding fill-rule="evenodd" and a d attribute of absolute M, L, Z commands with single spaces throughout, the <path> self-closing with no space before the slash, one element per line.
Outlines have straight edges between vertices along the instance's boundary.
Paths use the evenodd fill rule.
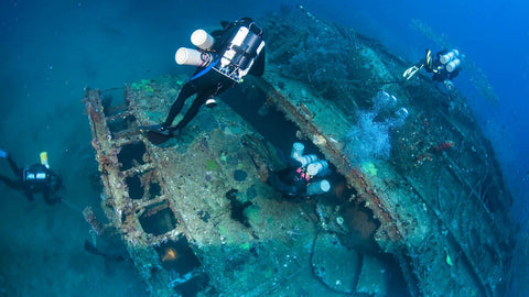
<path fill-rule="evenodd" d="M 460 74 L 462 58 L 463 55 L 460 56 L 460 51 L 457 50 L 443 50 L 438 52 L 436 58 L 433 59 L 432 51 L 427 50 L 425 57 L 408 68 L 402 74 L 402 77 L 409 80 L 417 72 L 424 67 L 427 73 L 433 73 L 432 80 L 443 82 L 444 87 L 451 91 L 455 88 L 452 79 Z"/>

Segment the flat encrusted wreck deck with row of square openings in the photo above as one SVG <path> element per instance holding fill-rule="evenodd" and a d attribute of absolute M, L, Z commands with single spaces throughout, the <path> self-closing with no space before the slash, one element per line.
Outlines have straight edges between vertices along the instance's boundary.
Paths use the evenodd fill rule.
<path fill-rule="evenodd" d="M 171 103 L 163 98 L 181 81 L 168 77 L 127 87 L 126 103 L 118 108 L 104 107 L 99 91 L 86 97 L 106 188 L 102 205 L 150 292 L 328 296 L 327 283 L 334 293 L 352 290 L 356 253 L 317 231 L 313 209 L 285 201 L 261 182 L 266 177 L 255 164 L 273 148 L 227 106 L 201 113 L 182 138 L 163 146 L 136 130 L 162 120 Z M 239 211 L 248 226 L 244 217 L 233 217 L 233 204 L 246 201 L 251 205 Z M 337 258 L 327 255 L 330 249 Z M 352 262 L 336 266 L 344 257 Z M 382 266 L 373 262 L 369 267 Z M 325 280 L 313 270 L 325 271 Z"/>

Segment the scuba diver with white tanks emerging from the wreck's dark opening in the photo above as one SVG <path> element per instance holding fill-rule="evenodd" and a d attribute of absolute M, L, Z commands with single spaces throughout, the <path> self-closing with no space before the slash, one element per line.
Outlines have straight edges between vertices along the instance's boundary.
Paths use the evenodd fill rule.
<path fill-rule="evenodd" d="M 289 198 L 302 198 L 327 193 L 331 184 L 322 177 L 328 175 L 328 163 L 316 155 L 303 155 L 305 146 L 292 145 L 289 167 L 269 174 L 269 183 Z"/>

